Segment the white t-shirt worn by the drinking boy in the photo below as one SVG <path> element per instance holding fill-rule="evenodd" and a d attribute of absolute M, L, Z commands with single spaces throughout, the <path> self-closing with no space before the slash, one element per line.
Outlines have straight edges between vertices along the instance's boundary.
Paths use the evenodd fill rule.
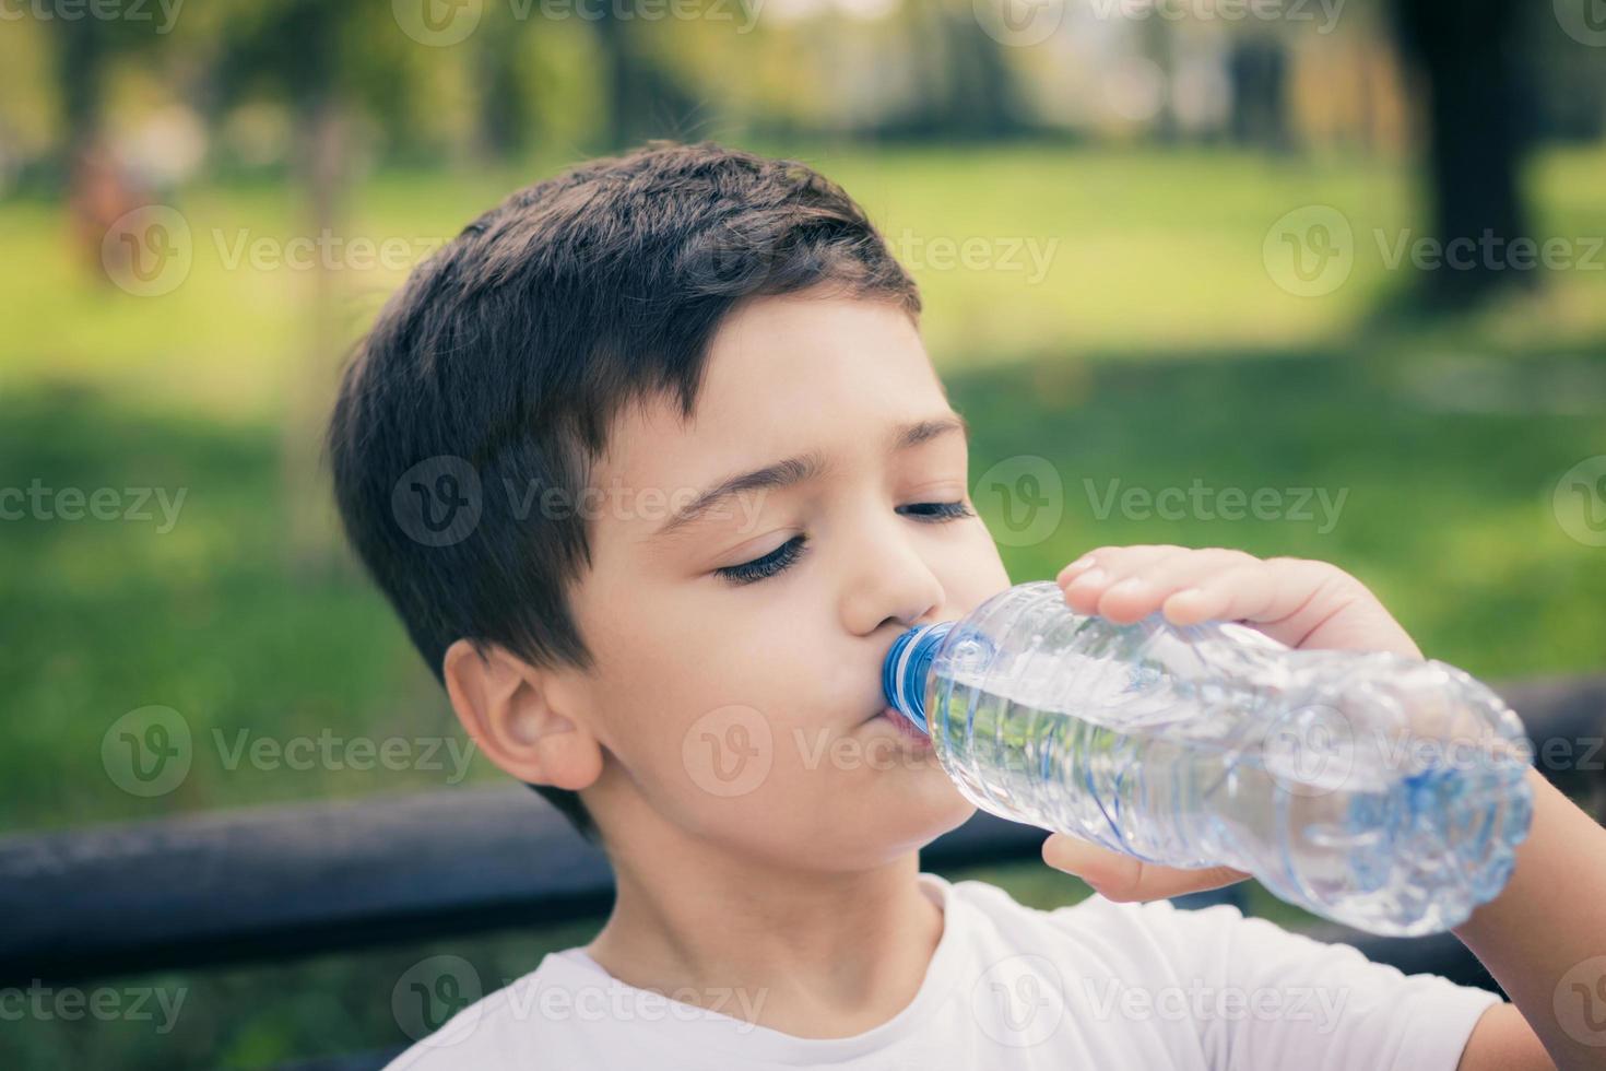
<path fill-rule="evenodd" d="M 580 1068 L 1232 1068 L 1453 1071 L 1498 994 L 1402 975 L 1344 944 L 1168 901 L 1092 896 L 1037 910 L 984 882 L 920 873 L 944 912 L 914 1000 L 853 1037 L 742 1018 L 761 994 L 697 1007 L 564 949 L 408 1049 L 392 1071 Z"/>

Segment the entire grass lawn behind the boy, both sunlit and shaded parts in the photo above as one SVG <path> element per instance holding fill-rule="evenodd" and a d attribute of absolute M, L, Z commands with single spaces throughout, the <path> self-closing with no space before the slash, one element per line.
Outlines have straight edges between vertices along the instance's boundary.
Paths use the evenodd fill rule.
<path fill-rule="evenodd" d="M 1002 466 L 976 501 L 1017 581 L 1107 543 L 1320 557 L 1372 584 L 1429 655 L 1474 674 L 1600 668 L 1606 551 L 1569 538 L 1551 511 L 1561 474 L 1606 451 L 1600 278 L 1556 276 L 1535 297 L 1450 323 L 1375 321 L 1402 283 L 1375 254 L 1357 254 L 1328 297 L 1277 289 L 1261 241 L 1283 212 L 1335 204 L 1357 233 L 1413 217 L 1408 185 L 1376 164 L 1033 148 L 803 156 L 895 239 L 903 228 L 1060 238 L 1036 284 L 915 265 L 928 344 L 976 432 L 973 483 Z M 1548 233 L 1606 233 L 1585 181 L 1600 164 L 1600 153 L 1561 153 L 1534 165 Z M 345 233 L 448 234 L 511 185 L 384 175 L 353 193 Z M 165 533 L 154 522 L 0 522 L 8 830 L 446 785 L 445 771 L 228 769 L 214 732 L 461 739 L 358 570 L 339 552 L 312 565 L 286 554 L 287 517 L 326 496 L 321 485 L 286 490 L 281 462 L 287 385 L 320 371 L 305 356 L 307 295 L 331 286 L 334 334 L 353 337 L 400 273 L 225 268 L 212 228 L 225 241 L 239 228 L 292 233 L 294 199 L 278 188 L 204 188 L 183 209 L 206 236 L 190 278 L 165 297 L 133 297 L 71 260 L 55 209 L 0 204 L 11 254 L 0 286 L 26 310 L 0 342 L 0 487 L 186 495 Z M 1026 456 L 1058 478 L 1058 520 L 1017 546 L 997 487 L 1013 485 Z M 1330 531 L 1298 519 L 1100 517 L 1111 480 L 1346 498 Z M 154 798 L 119 788 L 101 755 L 111 724 L 146 705 L 178 711 L 198 743 L 183 784 Z M 471 763 L 467 780 L 495 777 Z M 1039 864 L 980 875 L 1039 907 L 1086 894 Z M 1253 902 L 1301 918 L 1264 893 Z M 390 988 L 408 963 L 463 954 L 499 984 L 591 928 L 172 975 L 162 984 L 190 991 L 172 1036 L 24 1021 L 0 1032 L 0 1063 L 260 1066 L 395 1044 Z"/>

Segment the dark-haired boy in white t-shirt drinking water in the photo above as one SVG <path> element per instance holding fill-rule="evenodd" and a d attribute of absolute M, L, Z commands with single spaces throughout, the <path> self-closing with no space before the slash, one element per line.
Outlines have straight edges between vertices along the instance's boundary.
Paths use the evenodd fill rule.
<path fill-rule="evenodd" d="M 1232 872 L 1054 837 L 1046 861 L 1102 896 L 1041 912 L 919 870 L 973 808 L 882 715 L 882 658 L 1010 583 L 919 310 L 821 175 L 655 141 L 516 193 L 381 313 L 329 437 L 347 530 L 469 735 L 617 878 L 596 939 L 393 1066 L 1516 1071 L 1606 1053 L 1558 989 L 1606 952 L 1606 833 L 1537 777 L 1516 877 L 1460 930 L 1516 1005 L 1233 907 L 1129 902 Z M 1418 654 L 1317 562 L 1102 548 L 1060 581 L 1116 620 L 1164 609 Z"/>

